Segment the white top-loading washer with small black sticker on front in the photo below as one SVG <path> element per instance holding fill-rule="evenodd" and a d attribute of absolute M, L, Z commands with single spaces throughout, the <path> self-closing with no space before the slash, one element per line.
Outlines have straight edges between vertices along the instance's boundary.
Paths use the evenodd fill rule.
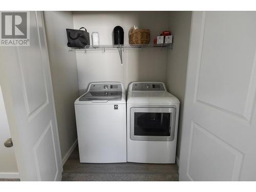
<path fill-rule="evenodd" d="M 75 101 L 81 163 L 126 162 L 126 100 L 122 83 L 91 83 Z"/>

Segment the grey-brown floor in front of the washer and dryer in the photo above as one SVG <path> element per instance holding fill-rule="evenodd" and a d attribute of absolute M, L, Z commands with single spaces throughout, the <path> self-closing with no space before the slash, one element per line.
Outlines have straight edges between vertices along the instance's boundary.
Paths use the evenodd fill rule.
<path fill-rule="evenodd" d="M 76 147 L 63 166 L 62 181 L 178 181 L 178 166 L 147 163 L 80 163 Z"/>

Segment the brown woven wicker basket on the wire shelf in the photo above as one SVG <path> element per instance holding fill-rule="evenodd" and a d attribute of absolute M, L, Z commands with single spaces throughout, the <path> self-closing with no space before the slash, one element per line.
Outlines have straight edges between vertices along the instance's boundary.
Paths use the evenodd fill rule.
<path fill-rule="evenodd" d="M 134 29 L 129 31 L 129 43 L 133 44 L 149 44 L 150 43 L 150 30 L 149 29 Z"/>

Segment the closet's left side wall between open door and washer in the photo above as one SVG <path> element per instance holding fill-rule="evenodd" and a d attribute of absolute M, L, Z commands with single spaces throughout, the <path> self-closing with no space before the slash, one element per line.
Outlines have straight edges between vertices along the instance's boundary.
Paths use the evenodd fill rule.
<path fill-rule="evenodd" d="M 53 84 L 62 162 L 77 143 L 74 101 L 79 95 L 76 56 L 68 52 L 66 28 L 73 28 L 71 11 L 45 11 L 45 28 Z"/>

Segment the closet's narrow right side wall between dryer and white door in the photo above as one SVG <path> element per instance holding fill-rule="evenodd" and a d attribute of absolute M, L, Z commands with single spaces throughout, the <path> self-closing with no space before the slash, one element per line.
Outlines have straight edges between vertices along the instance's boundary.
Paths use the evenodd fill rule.
<path fill-rule="evenodd" d="M 173 50 L 168 50 L 166 87 L 180 100 L 179 128 L 176 156 L 180 156 L 183 104 L 185 97 L 191 11 L 172 11 L 169 14 L 169 27 L 174 35 Z"/>

